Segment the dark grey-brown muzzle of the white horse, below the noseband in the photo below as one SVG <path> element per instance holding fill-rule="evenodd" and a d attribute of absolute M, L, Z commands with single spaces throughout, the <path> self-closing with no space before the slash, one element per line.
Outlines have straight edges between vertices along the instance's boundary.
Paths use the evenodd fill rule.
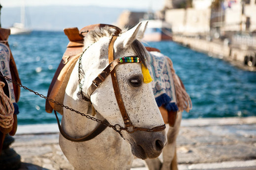
<path fill-rule="evenodd" d="M 158 157 L 167 143 L 165 131 L 146 132 L 136 131 L 129 134 L 127 141 L 131 144 L 133 155 L 138 158 L 156 158 Z"/>

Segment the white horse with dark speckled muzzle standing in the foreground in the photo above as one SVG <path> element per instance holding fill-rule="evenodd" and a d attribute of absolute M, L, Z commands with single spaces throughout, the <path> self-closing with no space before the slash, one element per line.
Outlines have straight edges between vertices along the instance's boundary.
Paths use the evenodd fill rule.
<path fill-rule="evenodd" d="M 139 23 L 136 27 L 119 34 L 113 44 L 114 59 L 118 57 L 138 56 L 146 64 L 147 52 L 136 39 L 143 37 L 146 24 Z M 96 29 L 90 31 L 84 40 L 87 50 L 81 57 L 81 85 L 84 96 L 97 111 L 95 118 L 104 118 L 111 125 L 119 124 L 125 127 L 120 113 L 111 77 L 95 89 L 89 96 L 88 91 L 92 81 L 108 65 L 108 47 L 113 28 Z M 139 48 L 138 48 L 139 47 Z M 93 109 L 88 109 L 90 102 L 86 102 L 80 95 L 78 85 L 77 61 L 66 87 L 64 105 L 75 110 L 93 115 Z M 125 110 L 135 127 L 151 129 L 164 124 L 161 113 L 156 105 L 150 84 L 143 83 L 142 64 L 127 63 L 116 66 L 116 76 L 120 88 Z M 64 110 L 62 127 L 72 138 L 80 138 L 93 131 L 98 123 Z M 77 170 L 127 170 L 131 168 L 133 155 L 138 158 L 156 158 L 162 152 L 167 142 L 165 131 L 146 132 L 135 131 L 128 133 L 122 130 L 123 140 L 113 129 L 107 128 L 100 135 L 86 142 L 72 142 L 60 135 L 59 143 L 69 162 Z"/>

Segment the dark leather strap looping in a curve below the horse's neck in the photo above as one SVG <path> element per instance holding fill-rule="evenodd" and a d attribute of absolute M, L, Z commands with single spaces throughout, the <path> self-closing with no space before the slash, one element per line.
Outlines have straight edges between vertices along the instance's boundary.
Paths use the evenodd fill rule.
<path fill-rule="evenodd" d="M 104 119 L 103 123 L 105 123 L 105 124 L 100 123 L 97 128 L 95 128 L 92 132 L 90 132 L 89 134 L 85 135 L 84 137 L 82 137 L 82 138 L 72 138 L 68 134 L 66 134 L 66 132 L 63 130 L 62 126 L 60 125 L 60 121 L 59 121 L 59 118 L 58 118 L 57 113 L 56 113 L 55 110 L 54 110 L 54 113 L 55 113 L 55 116 L 56 116 L 56 120 L 57 120 L 58 127 L 59 127 L 61 135 L 64 138 L 66 138 L 67 140 L 72 141 L 72 142 L 85 142 L 85 141 L 89 141 L 89 140 L 97 137 L 100 133 L 102 133 L 108 127 L 105 124 L 109 124 L 109 122 L 106 119 Z"/>

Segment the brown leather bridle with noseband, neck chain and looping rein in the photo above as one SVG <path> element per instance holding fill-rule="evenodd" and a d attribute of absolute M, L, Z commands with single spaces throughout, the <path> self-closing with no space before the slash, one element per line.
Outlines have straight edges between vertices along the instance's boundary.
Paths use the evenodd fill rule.
<path fill-rule="evenodd" d="M 132 122 L 131 122 L 131 120 L 130 120 L 127 112 L 126 112 L 126 109 L 125 109 L 125 106 L 124 106 L 124 103 L 123 103 L 123 100 L 122 100 L 122 97 L 121 97 L 121 93 L 120 93 L 120 89 L 119 89 L 119 86 L 118 86 L 116 73 L 115 73 L 115 66 L 119 65 L 119 64 L 134 63 L 134 62 L 120 62 L 119 58 L 114 59 L 114 48 L 113 48 L 113 46 L 114 46 L 114 42 L 115 42 L 116 38 L 117 38 L 117 36 L 113 35 L 112 38 L 110 39 L 109 51 L 108 51 L 108 53 L 109 53 L 108 54 L 109 55 L 109 65 L 92 81 L 92 84 L 90 85 L 90 87 L 87 90 L 88 98 L 83 95 L 82 87 L 81 87 L 82 86 L 81 85 L 81 79 L 80 79 L 81 57 L 88 48 L 85 49 L 83 51 L 83 53 L 81 54 L 81 56 L 79 58 L 79 65 L 78 65 L 78 77 L 79 77 L 79 88 L 80 88 L 79 94 L 81 94 L 82 98 L 85 101 L 90 102 L 91 94 L 97 89 L 97 87 L 99 85 L 101 85 L 106 80 L 106 78 L 109 75 L 111 75 L 114 94 L 115 94 L 116 101 L 117 101 L 119 110 L 121 112 L 125 127 L 123 128 L 119 124 L 116 124 L 114 126 L 110 125 L 109 122 L 106 119 L 104 119 L 102 121 L 97 121 L 97 122 L 100 122 L 100 124 L 98 125 L 98 127 L 96 127 L 88 135 L 85 135 L 82 138 L 72 138 L 68 134 L 66 134 L 65 131 L 63 130 L 63 128 L 61 127 L 58 116 L 57 116 L 57 113 L 56 113 L 56 111 L 54 111 L 57 122 L 58 122 L 58 127 L 59 127 L 59 130 L 60 130 L 60 133 L 62 134 L 62 136 L 64 138 L 66 138 L 69 141 L 73 141 L 73 142 L 89 141 L 89 140 L 95 138 L 101 132 L 103 132 L 108 126 L 114 127 L 113 129 L 115 131 L 117 131 L 120 134 L 121 137 L 123 137 L 122 134 L 120 133 L 122 130 L 125 130 L 128 133 L 133 133 L 135 131 L 159 132 L 159 131 L 163 131 L 166 128 L 165 124 L 163 124 L 161 126 L 156 126 L 156 127 L 150 128 L 150 129 L 149 128 L 142 128 L 142 127 L 135 127 L 132 124 Z M 136 56 L 133 56 L 133 57 L 136 57 Z M 92 107 L 92 110 L 95 111 L 91 103 L 90 103 L 90 106 Z"/>

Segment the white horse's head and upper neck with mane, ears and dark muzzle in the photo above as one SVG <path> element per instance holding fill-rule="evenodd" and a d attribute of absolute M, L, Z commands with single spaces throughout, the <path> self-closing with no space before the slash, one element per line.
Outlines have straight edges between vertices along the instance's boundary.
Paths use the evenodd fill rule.
<path fill-rule="evenodd" d="M 109 46 L 112 36 L 116 35 L 114 28 L 96 28 L 90 31 L 84 39 L 86 50 L 79 63 L 80 89 L 83 95 L 90 99 L 97 114 L 111 125 L 118 125 L 117 129 L 126 129 L 120 133 L 130 143 L 132 153 L 141 159 L 159 156 L 167 142 L 164 128 L 157 130 L 157 127 L 163 127 L 164 122 L 151 85 L 145 83 L 145 75 L 142 72 L 142 67 L 147 66 L 148 53 L 139 40 L 143 37 L 146 24 L 139 23 L 134 28 L 119 33 L 112 42 L 112 49 L 109 49 Z M 112 74 L 104 78 L 91 94 L 88 93 L 99 73 L 108 66 L 113 69 L 109 65 L 109 50 L 113 50 L 114 60 L 130 56 L 138 57 L 140 60 L 140 63 L 117 64 L 114 68 L 126 118 L 122 116 L 117 102 L 111 80 Z M 74 89 L 79 91 L 78 86 Z M 81 95 L 77 96 L 77 100 L 82 100 Z"/>

